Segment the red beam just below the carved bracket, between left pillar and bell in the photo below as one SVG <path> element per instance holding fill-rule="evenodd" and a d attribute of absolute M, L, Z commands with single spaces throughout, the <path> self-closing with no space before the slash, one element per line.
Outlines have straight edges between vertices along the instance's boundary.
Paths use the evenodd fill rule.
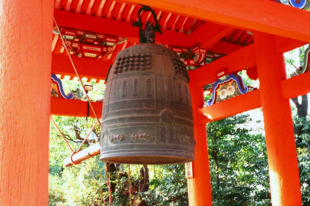
<path fill-rule="evenodd" d="M 73 62 L 81 78 L 105 79 L 112 61 L 102 61 L 72 56 Z M 52 54 L 52 73 L 75 77 L 76 73 L 67 55 Z"/>

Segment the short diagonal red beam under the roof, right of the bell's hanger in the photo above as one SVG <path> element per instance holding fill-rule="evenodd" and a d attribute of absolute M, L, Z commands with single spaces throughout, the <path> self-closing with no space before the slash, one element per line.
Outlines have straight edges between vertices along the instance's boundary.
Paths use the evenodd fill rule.
<path fill-rule="evenodd" d="M 205 22 L 189 35 L 189 44 L 200 42 L 201 48 L 209 49 L 233 30 L 231 27 Z"/>

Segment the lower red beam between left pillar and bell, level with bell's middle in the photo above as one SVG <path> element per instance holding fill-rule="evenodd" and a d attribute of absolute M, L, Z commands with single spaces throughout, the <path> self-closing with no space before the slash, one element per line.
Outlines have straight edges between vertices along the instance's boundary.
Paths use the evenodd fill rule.
<path fill-rule="evenodd" d="M 95 109 L 98 118 L 101 118 L 102 102 L 91 103 Z M 70 117 L 86 117 L 87 101 L 51 98 L 51 115 L 70 116 Z M 89 116 L 95 118 L 91 108 Z"/>

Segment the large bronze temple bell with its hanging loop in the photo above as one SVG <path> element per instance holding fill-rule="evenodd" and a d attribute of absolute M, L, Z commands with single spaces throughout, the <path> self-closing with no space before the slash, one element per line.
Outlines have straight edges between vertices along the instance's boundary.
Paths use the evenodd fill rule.
<path fill-rule="evenodd" d="M 142 29 L 140 13 L 150 11 Z M 189 77 L 176 52 L 154 44 L 161 33 L 155 12 L 138 11 L 140 44 L 120 51 L 109 70 L 102 109 L 100 159 L 122 164 L 193 161 L 194 130 Z"/>

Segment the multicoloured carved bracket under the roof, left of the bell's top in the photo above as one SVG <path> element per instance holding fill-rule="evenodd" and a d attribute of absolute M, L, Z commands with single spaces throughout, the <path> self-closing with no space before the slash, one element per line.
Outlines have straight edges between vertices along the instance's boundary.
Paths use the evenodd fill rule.
<path fill-rule="evenodd" d="M 60 28 L 70 52 L 75 56 L 85 58 L 98 58 L 111 54 L 116 44 L 123 43 L 126 38 L 120 36 L 107 36 L 105 34 L 93 34 L 84 31 L 75 31 L 69 28 Z M 53 28 L 53 33 L 58 35 L 57 28 Z"/>

